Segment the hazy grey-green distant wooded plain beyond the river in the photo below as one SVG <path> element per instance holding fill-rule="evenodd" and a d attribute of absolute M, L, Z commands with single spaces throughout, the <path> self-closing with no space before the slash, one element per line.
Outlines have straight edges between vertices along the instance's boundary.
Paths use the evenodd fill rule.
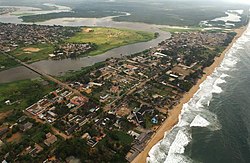
<path fill-rule="evenodd" d="M 182 0 L 181 0 L 182 1 Z M 213 1 L 213 0 L 212 0 Z M 130 16 L 114 18 L 115 21 L 144 22 L 151 24 L 197 26 L 202 20 L 211 20 L 225 16 L 228 9 L 247 9 L 243 5 L 235 5 L 218 1 L 115 1 L 106 3 L 103 0 L 77 3 L 62 2 L 72 7 L 74 12 L 52 13 L 45 15 L 23 16 L 24 21 L 36 22 L 62 17 L 100 18 L 105 16 L 122 15 L 129 12 Z M 93 12 L 94 11 L 94 12 Z"/>

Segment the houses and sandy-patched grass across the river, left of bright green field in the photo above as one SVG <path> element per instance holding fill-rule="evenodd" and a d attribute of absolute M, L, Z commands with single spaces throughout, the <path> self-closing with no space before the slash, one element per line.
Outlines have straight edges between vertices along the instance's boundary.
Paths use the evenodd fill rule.
<path fill-rule="evenodd" d="M 0 23 L 0 50 L 4 52 L 17 51 L 17 56 L 22 56 L 22 61 L 32 61 L 32 53 L 38 53 L 46 59 L 62 59 L 76 57 L 81 53 L 91 50 L 88 43 L 70 44 L 65 40 L 79 32 L 79 27 L 42 26 L 24 24 Z M 59 45 L 59 47 L 55 46 Z M 45 54 L 40 54 L 45 53 Z M 48 53 L 48 54 L 46 54 Z M 44 56 L 44 57 L 43 57 Z M 38 56 L 38 58 L 40 58 Z"/>

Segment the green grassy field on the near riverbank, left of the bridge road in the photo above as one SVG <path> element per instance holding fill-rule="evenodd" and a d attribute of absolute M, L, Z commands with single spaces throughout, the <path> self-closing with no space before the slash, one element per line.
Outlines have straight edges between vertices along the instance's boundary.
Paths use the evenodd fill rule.
<path fill-rule="evenodd" d="M 21 80 L 0 85 L 0 112 L 23 110 L 54 89 L 52 83 L 42 79 Z M 10 100 L 11 105 L 5 101 Z"/>

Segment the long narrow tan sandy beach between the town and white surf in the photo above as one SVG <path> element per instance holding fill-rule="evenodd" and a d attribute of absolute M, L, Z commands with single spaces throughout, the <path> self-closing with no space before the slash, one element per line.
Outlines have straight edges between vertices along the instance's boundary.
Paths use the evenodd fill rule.
<path fill-rule="evenodd" d="M 166 131 L 171 130 L 178 123 L 179 115 L 181 114 L 183 105 L 187 103 L 193 97 L 193 95 L 199 90 L 200 84 L 203 83 L 203 81 L 205 81 L 206 78 L 210 76 L 214 72 L 214 70 L 221 64 L 226 53 L 231 49 L 231 47 L 238 40 L 238 38 L 242 36 L 242 34 L 245 32 L 246 29 L 247 29 L 247 26 L 243 26 L 241 28 L 234 30 L 237 33 L 237 35 L 234 37 L 232 42 L 227 46 L 227 48 L 221 53 L 219 57 L 215 58 L 215 61 L 211 66 L 204 69 L 205 74 L 202 76 L 201 79 L 197 81 L 196 85 L 194 85 L 190 89 L 189 92 L 183 95 L 183 98 L 179 101 L 179 104 L 169 111 L 169 117 L 158 128 L 154 136 L 147 143 L 144 150 L 132 161 L 132 163 L 145 163 L 146 162 L 148 153 L 151 150 L 151 148 L 155 144 L 157 144 L 161 139 L 163 139 L 164 133 Z"/>

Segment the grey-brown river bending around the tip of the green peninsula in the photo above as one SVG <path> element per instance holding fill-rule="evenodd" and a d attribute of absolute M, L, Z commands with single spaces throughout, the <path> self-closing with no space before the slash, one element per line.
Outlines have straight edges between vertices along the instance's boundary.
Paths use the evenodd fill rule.
<path fill-rule="evenodd" d="M 123 16 L 129 15 L 129 13 L 123 13 Z M 7 19 L 11 17 L 11 19 Z M 45 22 L 38 22 L 39 25 L 62 25 L 62 26 L 100 26 L 100 27 L 113 27 L 124 28 L 132 30 L 140 30 L 147 32 L 157 32 L 159 36 L 148 42 L 139 42 L 135 44 L 125 45 L 118 48 L 109 50 L 103 54 L 88 57 L 79 57 L 76 59 L 63 59 L 63 60 L 42 60 L 31 65 L 42 72 L 53 75 L 61 76 L 69 71 L 77 71 L 83 67 L 94 65 L 95 63 L 105 61 L 108 58 L 119 58 L 121 54 L 123 56 L 142 52 L 150 47 L 157 46 L 160 42 L 170 38 L 170 33 L 160 30 L 159 28 L 168 27 L 164 25 L 154 25 L 145 23 L 132 23 L 132 22 L 115 22 L 113 18 L 116 16 L 109 16 L 104 18 L 59 18 L 51 19 Z M 5 14 L 0 16 L 0 22 L 3 23 L 16 23 L 16 24 L 29 24 L 20 21 L 17 15 Z M 22 71 L 20 71 L 20 69 Z M 20 73 L 23 72 L 23 73 Z M 12 74 L 12 75 L 8 75 Z M 1 71 L 0 83 L 12 82 L 22 79 L 31 79 L 37 77 L 37 74 L 30 73 L 30 70 L 23 67 L 16 67 L 9 70 Z"/>

